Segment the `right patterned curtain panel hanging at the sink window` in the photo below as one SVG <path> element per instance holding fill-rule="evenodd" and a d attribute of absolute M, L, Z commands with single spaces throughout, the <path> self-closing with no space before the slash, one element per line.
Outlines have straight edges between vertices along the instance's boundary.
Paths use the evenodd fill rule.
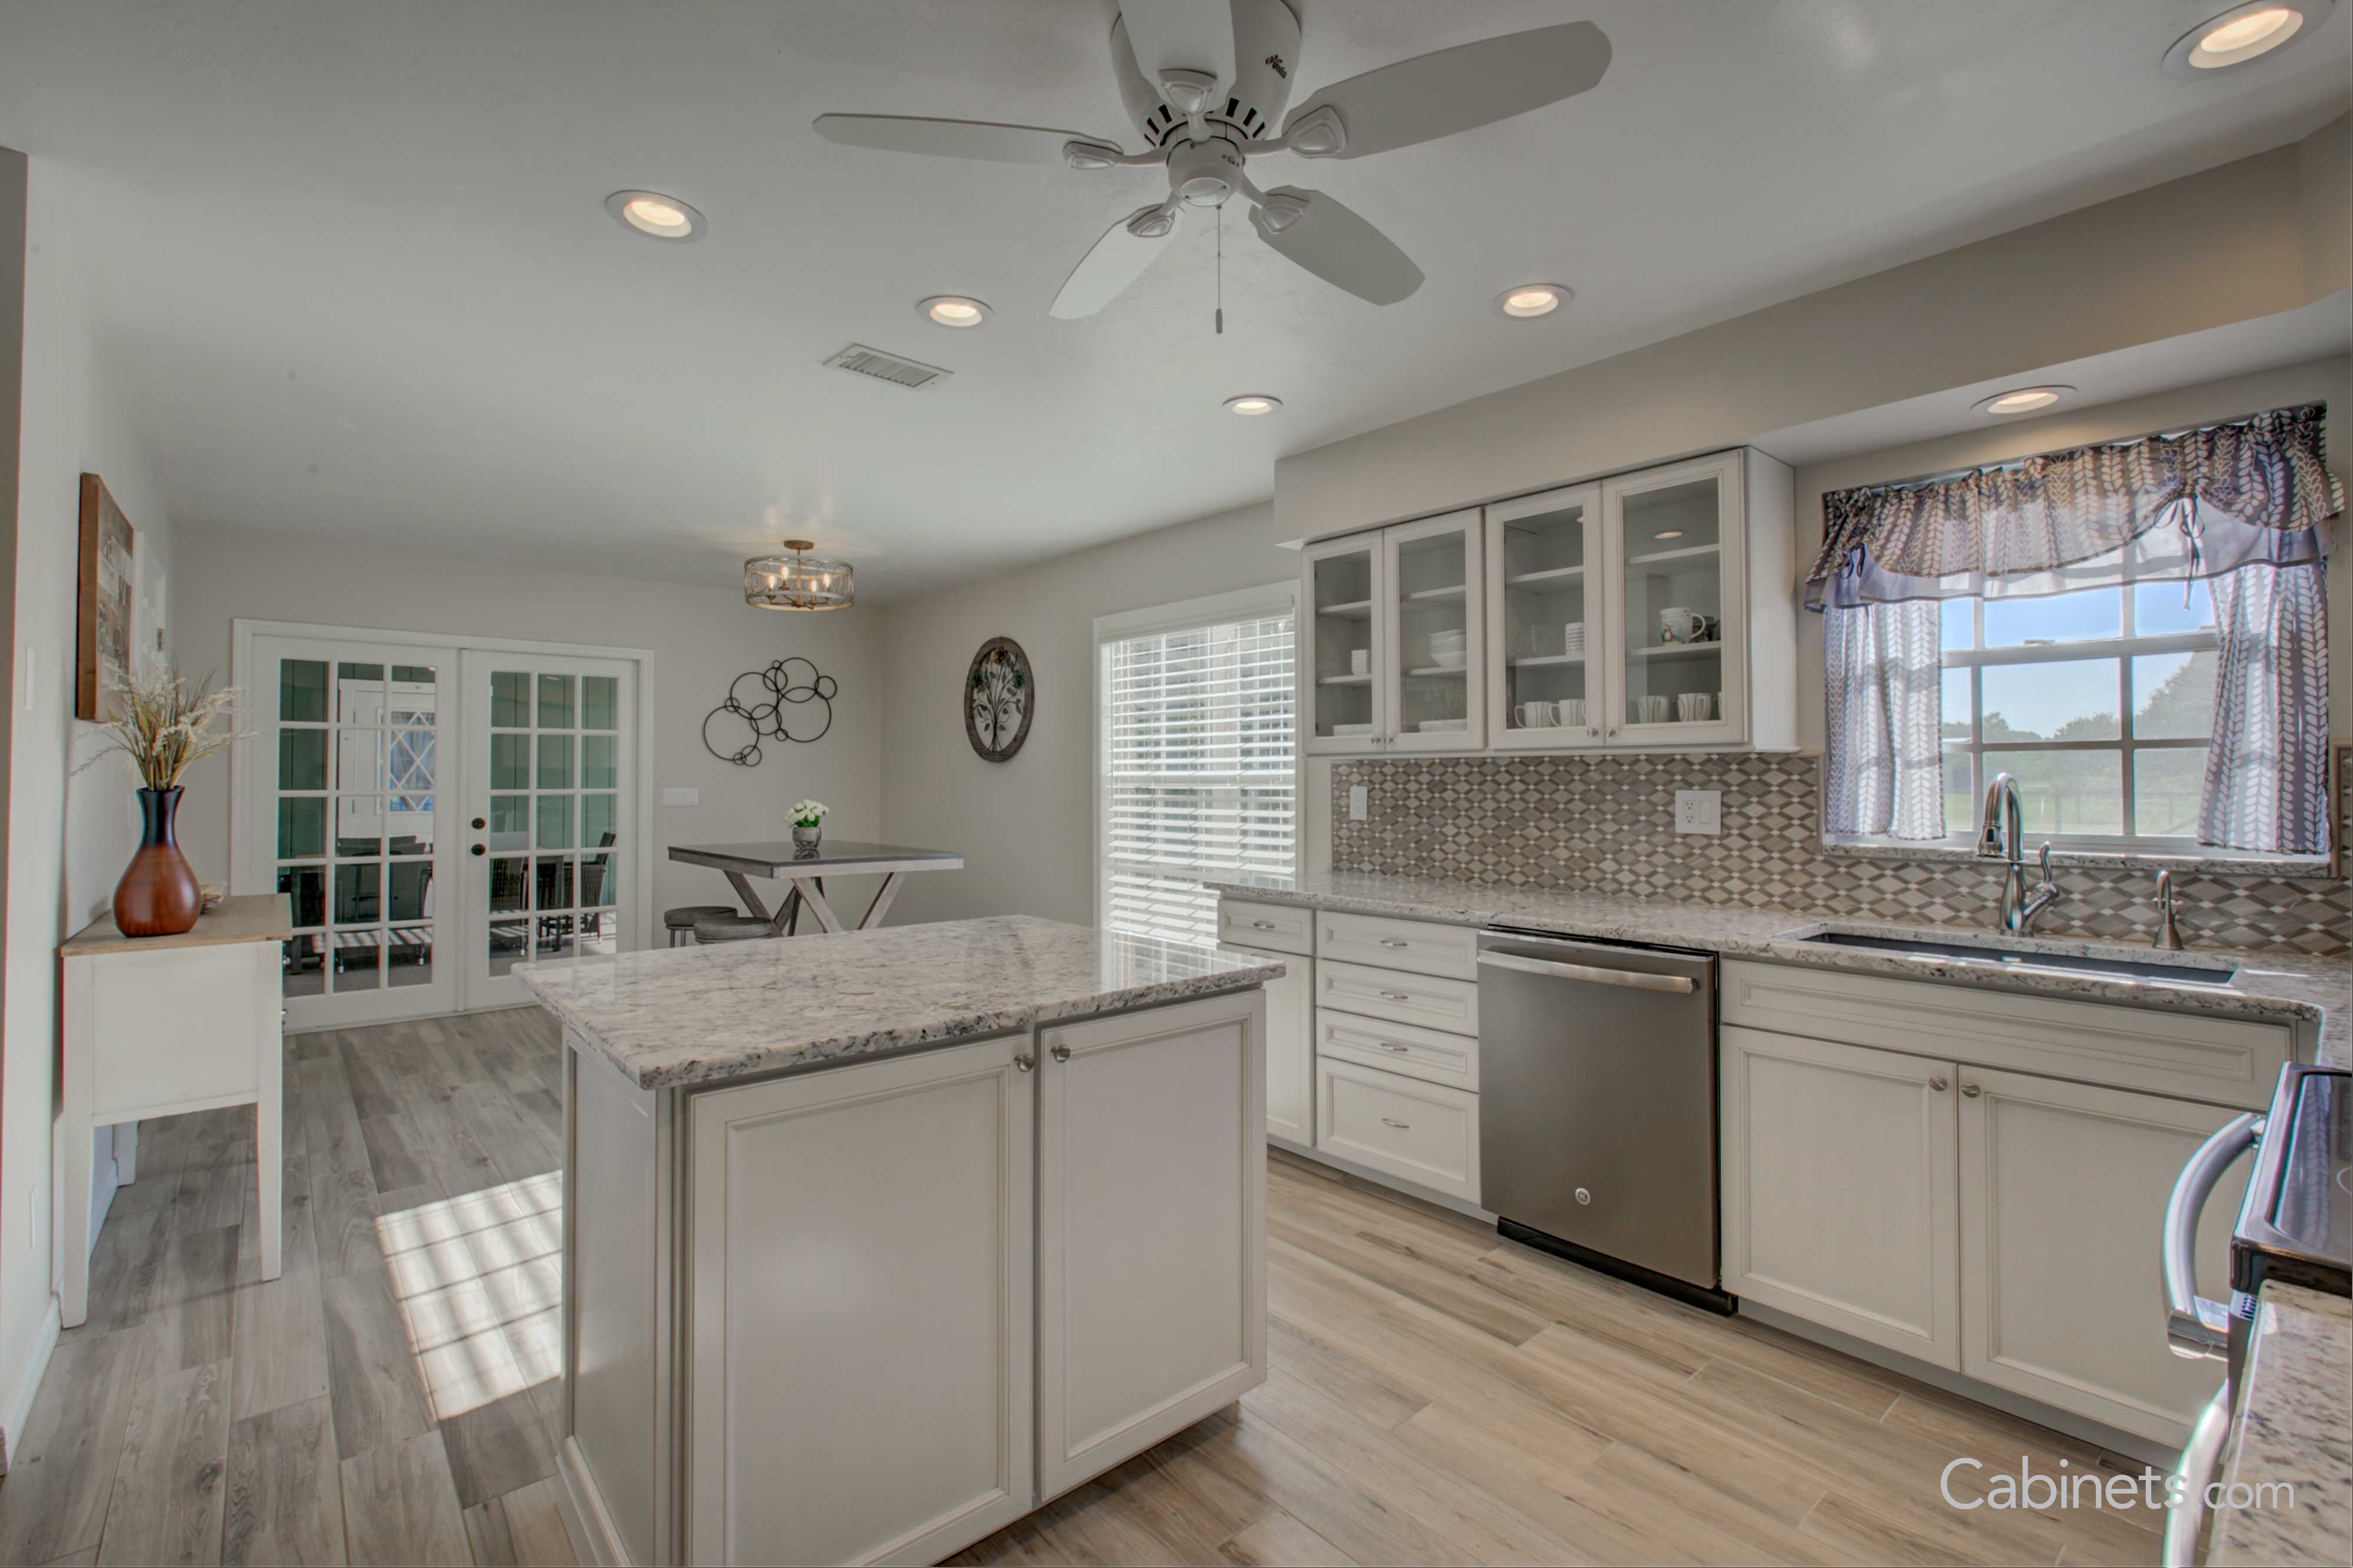
<path fill-rule="evenodd" d="M 2198 842 L 2329 851 L 2329 614 L 2320 567 L 2214 578 L 2214 745 Z"/>

